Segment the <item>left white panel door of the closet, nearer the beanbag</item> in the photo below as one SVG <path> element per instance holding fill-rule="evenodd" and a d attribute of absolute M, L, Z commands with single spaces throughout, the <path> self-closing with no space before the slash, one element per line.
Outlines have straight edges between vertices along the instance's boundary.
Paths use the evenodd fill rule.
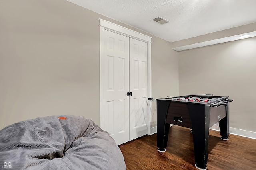
<path fill-rule="evenodd" d="M 129 141 L 129 38 L 104 30 L 104 128 L 117 145 Z"/>

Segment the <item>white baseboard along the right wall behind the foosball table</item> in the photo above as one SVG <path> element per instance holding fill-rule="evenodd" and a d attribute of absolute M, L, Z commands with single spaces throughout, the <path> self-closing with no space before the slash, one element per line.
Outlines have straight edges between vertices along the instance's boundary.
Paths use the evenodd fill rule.
<path fill-rule="evenodd" d="M 220 131 L 219 125 L 216 125 L 216 124 L 213 125 L 210 129 L 215 130 L 215 131 Z M 242 130 L 242 129 L 236 129 L 233 127 L 229 127 L 229 133 L 233 134 L 233 135 L 256 139 L 256 132 L 252 132 L 252 131 L 246 131 L 246 130 Z"/>

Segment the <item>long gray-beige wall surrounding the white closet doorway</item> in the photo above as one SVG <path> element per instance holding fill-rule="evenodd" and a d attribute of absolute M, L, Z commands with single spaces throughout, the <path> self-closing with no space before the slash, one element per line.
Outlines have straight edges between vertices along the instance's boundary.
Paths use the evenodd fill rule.
<path fill-rule="evenodd" d="M 151 36 L 152 97 L 178 94 L 169 42 L 64 0 L 0 0 L 0 129 L 61 114 L 100 124 L 98 18 Z"/>

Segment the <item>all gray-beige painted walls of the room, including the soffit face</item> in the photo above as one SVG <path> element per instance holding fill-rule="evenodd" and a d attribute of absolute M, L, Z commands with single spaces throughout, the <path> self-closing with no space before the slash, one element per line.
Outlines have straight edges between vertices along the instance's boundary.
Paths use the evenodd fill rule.
<path fill-rule="evenodd" d="M 100 124 L 98 18 L 152 37 L 152 97 L 228 95 L 230 127 L 256 129 L 256 38 L 182 52 L 172 47 L 255 31 L 249 24 L 169 43 L 64 0 L 0 0 L 0 129 L 47 115 Z M 156 103 L 152 102 L 152 125 Z"/>

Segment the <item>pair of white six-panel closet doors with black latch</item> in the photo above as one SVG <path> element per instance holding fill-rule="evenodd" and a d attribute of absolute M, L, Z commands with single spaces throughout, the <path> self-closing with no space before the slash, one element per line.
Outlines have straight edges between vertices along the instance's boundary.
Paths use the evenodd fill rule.
<path fill-rule="evenodd" d="M 147 43 L 104 30 L 104 130 L 117 145 L 147 134 L 146 99 Z"/>

